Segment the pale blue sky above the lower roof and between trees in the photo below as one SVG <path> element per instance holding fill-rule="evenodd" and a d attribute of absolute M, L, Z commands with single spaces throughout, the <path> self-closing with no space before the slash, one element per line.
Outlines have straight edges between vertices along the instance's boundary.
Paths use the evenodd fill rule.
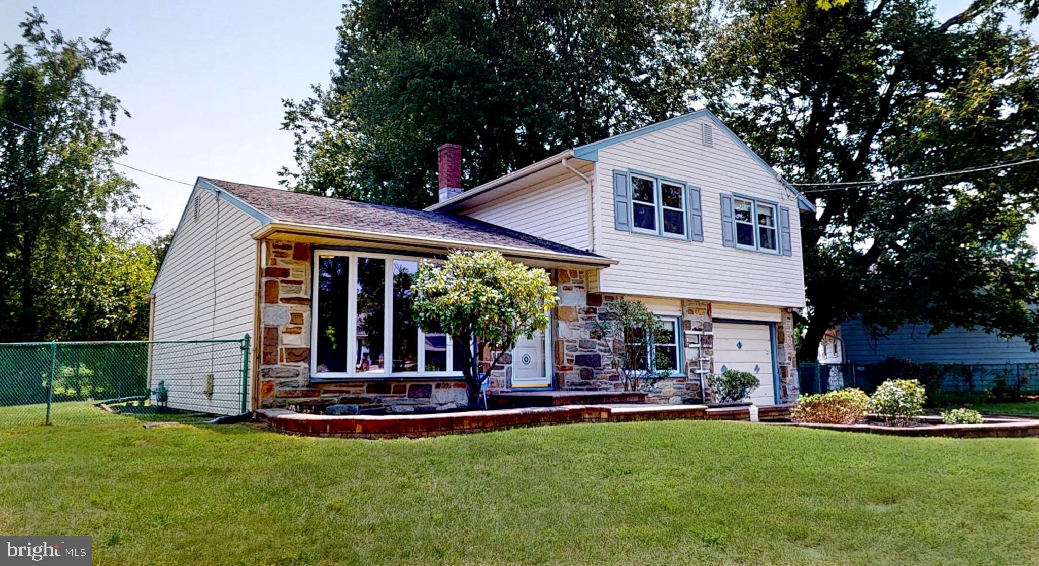
<path fill-rule="evenodd" d="M 938 0 L 937 16 L 968 2 Z M 328 84 L 342 9 L 329 0 L 0 0 L 0 43 L 21 41 L 18 24 L 33 5 L 66 36 L 111 28 L 127 63 L 94 82 L 132 115 L 116 123 L 130 150 L 122 163 L 189 185 L 210 177 L 267 187 L 294 165 L 282 100 Z M 1030 29 L 1039 36 L 1039 24 Z M 156 231 L 176 227 L 190 186 L 124 170 Z M 1039 245 L 1039 227 L 1031 239 Z"/>

